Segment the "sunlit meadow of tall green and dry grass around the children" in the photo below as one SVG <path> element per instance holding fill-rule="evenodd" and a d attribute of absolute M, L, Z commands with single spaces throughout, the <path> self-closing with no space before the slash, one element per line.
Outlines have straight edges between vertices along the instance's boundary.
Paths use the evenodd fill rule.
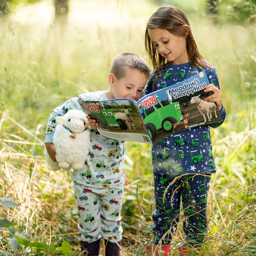
<path fill-rule="evenodd" d="M 227 110 L 212 129 L 217 172 L 207 238 L 196 255 L 255 255 L 255 22 L 225 20 L 228 6 L 216 20 L 202 1 L 172 4 L 187 14 L 200 53 L 216 67 Z M 67 99 L 107 89 L 116 54 L 135 52 L 149 63 L 145 25 L 158 7 L 153 0 L 70 0 L 60 24 L 45 0 L 0 16 L 0 255 L 79 255 L 73 184 L 68 172 L 51 172 L 45 162 L 46 122 Z M 155 201 L 148 144 L 126 142 L 125 172 L 121 256 L 139 256 L 151 237 Z"/>

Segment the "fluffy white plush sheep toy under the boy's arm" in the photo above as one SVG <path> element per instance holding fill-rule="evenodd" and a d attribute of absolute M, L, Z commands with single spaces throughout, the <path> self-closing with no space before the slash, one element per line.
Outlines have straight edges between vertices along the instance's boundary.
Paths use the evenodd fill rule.
<path fill-rule="evenodd" d="M 64 116 L 57 116 L 56 123 L 52 142 L 56 150 L 57 163 L 52 161 L 45 149 L 47 164 L 51 166 L 52 171 L 61 168 L 66 171 L 71 168 L 82 169 L 90 144 L 90 125 L 86 114 L 82 110 L 71 109 Z"/>

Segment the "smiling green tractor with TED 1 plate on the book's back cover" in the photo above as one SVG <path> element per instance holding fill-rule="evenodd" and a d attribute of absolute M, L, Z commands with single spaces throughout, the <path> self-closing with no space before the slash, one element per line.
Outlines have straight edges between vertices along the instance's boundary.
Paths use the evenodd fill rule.
<path fill-rule="evenodd" d="M 112 110 L 105 109 L 102 102 L 99 102 L 102 109 L 100 113 L 97 113 L 97 116 L 92 113 L 89 114 L 92 119 L 95 119 L 99 126 L 103 129 L 106 129 L 107 126 L 110 127 L 120 127 L 122 130 L 127 130 L 127 124 L 121 118 L 116 119 Z"/>

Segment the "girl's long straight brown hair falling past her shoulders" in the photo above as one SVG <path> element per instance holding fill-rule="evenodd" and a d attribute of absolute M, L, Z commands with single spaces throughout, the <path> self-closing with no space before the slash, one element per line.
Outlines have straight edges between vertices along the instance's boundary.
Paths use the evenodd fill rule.
<path fill-rule="evenodd" d="M 173 35 L 186 36 L 186 48 L 192 68 L 195 68 L 195 66 L 199 68 L 214 68 L 210 63 L 205 61 L 203 56 L 198 52 L 189 21 L 185 13 L 177 7 L 164 5 L 149 18 L 145 33 L 146 51 L 148 52 L 153 68 L 156 71 L 153 79 L 153 91 L 161 71 L 169 64 L 169 62 L 156 51 L 156 47 L 151 43 L 148 36 L 149 28 L 166 29 Z"/>

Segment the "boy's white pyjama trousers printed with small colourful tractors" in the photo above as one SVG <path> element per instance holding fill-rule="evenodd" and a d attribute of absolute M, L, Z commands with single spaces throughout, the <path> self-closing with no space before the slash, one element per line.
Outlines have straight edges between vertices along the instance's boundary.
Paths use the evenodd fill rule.
<path fill-rule="evenodd" d="M 115 188 L 92 188 L 74 182 L 81 241 L 91 243 L 102 236 L 108 239 L 109 235 L 116 241 L 122 240 L 120 212 L 123 188 L 124 185 Z"/>

